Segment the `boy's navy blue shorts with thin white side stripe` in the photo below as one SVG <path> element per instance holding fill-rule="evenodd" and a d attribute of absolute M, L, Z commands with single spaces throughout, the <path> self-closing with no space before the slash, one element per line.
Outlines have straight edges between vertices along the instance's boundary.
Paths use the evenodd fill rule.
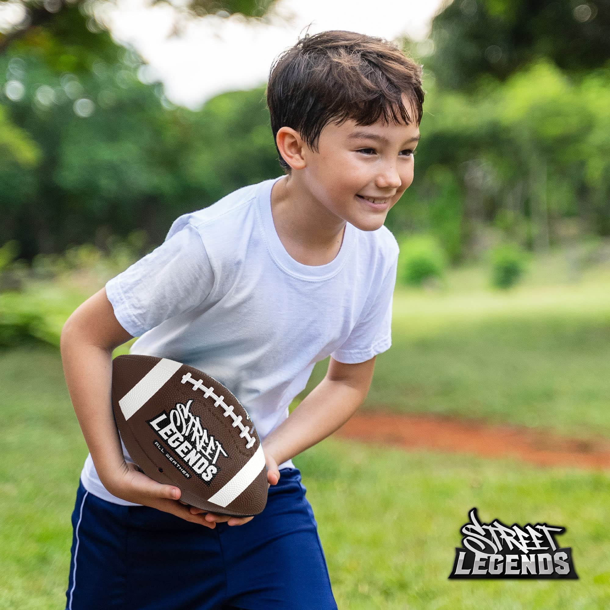
<path fill-rule="evenodd" d="M 300 470 L 280 474 L 263 512 L 214 529 L 81 482 L 66 610 L 337 610 Z"/>

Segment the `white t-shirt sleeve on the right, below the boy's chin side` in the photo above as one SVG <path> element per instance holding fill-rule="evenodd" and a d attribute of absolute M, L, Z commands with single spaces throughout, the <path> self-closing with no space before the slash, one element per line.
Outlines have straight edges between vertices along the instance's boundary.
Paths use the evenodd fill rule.
<path fill-rule="evenodd" d="M 371 291 L 372 302 L 365 304 L 361 318 L 352 329 L 350 336 L 331 356 L 338 362 L 356 364 L 389 350 L 392 345 L 392 302 L 398 257 L 379 285 Z"/>

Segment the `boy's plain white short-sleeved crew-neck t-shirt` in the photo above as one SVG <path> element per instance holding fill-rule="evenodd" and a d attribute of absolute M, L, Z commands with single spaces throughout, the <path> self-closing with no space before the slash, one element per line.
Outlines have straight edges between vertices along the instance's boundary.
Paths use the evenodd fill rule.
<path fill-rule="evenodd" d="M 271 187 L 280 178 L 176 218 L 162 245 L 106 284 L 117 320 L 138 337 L 130 353 L 218 379 L 245 406 L 261 440 L 288 417 L 316 362 L 329 355 L 364 362 L 392 345 L 392 232 L 346 223 L 331 262 L 297 262 L 271 215 Z M 132 461 L 124 444 L 123 454 Z M 279 464 L 285 467 L 294 467 L 292 459 Z M 139 506 L 106 490 L 91 454 L 81 477 L 98 497 Z"/>

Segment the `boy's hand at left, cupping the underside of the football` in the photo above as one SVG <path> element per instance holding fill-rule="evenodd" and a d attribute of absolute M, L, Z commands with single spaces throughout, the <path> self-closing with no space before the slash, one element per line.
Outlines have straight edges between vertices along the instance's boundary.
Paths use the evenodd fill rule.
<path fill-rule="evenodd" d="M 99 476 L 99 473 L 98 473 Z M 146 476 L 133 462 L 123 461 L 123 467 L 113 473 L 110 480 L 102 481 L 104 487 L 121 500 L 151 506 L 160 511 L 171 512 L 193 523 L 200 523 L 210 529 L 216 527 L 215 522 L 206 521 L 207 513 L 193 515 L 190 506 L 179 502 L 181 491 L 175 485 L 163 485 Z M 173 495 L 176 492 L 177 495 Z"/>

